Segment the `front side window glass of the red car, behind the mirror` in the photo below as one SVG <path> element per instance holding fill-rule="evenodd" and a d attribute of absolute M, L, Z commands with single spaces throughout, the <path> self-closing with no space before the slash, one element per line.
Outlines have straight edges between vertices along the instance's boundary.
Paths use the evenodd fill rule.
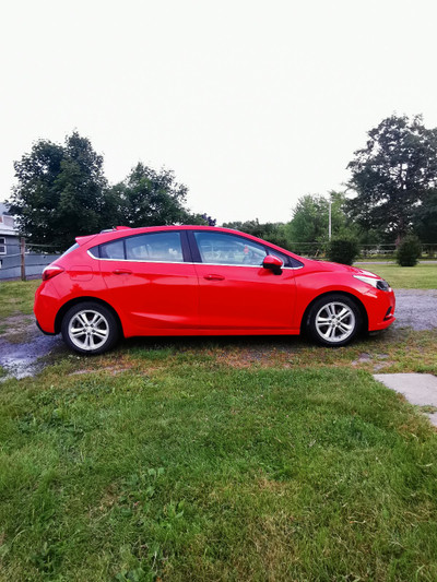
<path fill-rule="evenodd" d="M 200 257 L 208 264 L 261 266 L 265 248 L 243 237 L 225 233 L 194 233 Z"/>

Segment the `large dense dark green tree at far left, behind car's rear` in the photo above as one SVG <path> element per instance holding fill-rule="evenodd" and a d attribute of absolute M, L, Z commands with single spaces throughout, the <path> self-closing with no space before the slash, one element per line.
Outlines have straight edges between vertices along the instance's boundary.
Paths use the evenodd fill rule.
<path fill-rule="evenodd" d="M 29 242 L 64 249 L 74 237 L 99 230 L 110 214 L 103 158 L 73 132 L 64 145 L 39 140 L 14 163 L 17 185 L 9 201 Z"/>

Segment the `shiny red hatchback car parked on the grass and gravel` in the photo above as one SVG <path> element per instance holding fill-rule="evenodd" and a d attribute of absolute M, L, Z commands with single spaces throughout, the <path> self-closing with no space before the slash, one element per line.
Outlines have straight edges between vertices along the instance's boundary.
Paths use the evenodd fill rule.
<path fill-rule="evenodd" d="M 121 336 L 309 334 L 342 346 L 394 321 L 377 275 L 227 228 L 128 228 L 76 238 L 36 292 L 44 333 L 81 354 Z"/>

